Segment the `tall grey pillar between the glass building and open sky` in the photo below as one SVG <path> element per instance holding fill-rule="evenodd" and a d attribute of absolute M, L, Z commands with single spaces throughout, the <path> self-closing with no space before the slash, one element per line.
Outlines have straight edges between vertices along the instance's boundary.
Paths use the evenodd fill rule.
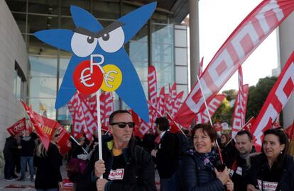
<path fill-rule="evenodd" d="M 199 16 L 198 0 L 189 0 L 190 26 L 190 76 L 191 87 L 197 81 L 199 69 Z"/>

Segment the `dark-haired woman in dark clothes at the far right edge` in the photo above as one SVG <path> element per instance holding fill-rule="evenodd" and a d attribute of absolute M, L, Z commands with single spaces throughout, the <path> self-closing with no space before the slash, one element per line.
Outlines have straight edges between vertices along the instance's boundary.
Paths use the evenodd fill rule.
<path fill-rule="evenodd" d="M 249 158 L 247 190 L 294 190 L 294 160 L 287 154 L 288 146 L 281 130 L 264 132 L 261 154 Z"/>

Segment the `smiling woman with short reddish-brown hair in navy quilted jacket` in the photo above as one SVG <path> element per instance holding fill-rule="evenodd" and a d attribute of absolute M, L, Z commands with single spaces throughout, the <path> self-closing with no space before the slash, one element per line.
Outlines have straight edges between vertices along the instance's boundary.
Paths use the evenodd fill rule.
<path fill-rule="evenodd" d="M 180 162 L 182 190 L 234 190 L 234 184 L 229 179 L 229 169 L 216 169 L 220 161 L 217 149 L 214 149 L 217 139 L 214 127 L 198 124 L 191 133 L 194 148 Z"/>

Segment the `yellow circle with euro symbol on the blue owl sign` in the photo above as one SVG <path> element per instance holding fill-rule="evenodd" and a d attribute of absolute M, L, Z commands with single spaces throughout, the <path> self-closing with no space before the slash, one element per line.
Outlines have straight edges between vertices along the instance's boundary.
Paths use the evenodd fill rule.
<path fill-rule="evenodd" d="M 107 64 L 102 67 L 104 70 L 102 90 L 103 91 L 116 91 L 121 86 L 122 73 L 121 70 L 114 64 Z"/>

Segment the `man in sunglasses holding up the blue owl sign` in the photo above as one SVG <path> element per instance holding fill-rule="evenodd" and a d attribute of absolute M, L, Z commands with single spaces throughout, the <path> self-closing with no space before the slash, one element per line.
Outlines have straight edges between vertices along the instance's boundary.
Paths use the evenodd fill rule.
<path fill-rule="evenodd" d="M 98 147 L 86 173 L 77 179 L 75 190 L 156 190 L 151 155 L 136 146 L 132 136 L 135 123 L 127 110 L 116 110 L 109 117 L 112 135 L 102 137 L 102 158 Z M 103 175 L 103 179 L 99 177 Z"/>

